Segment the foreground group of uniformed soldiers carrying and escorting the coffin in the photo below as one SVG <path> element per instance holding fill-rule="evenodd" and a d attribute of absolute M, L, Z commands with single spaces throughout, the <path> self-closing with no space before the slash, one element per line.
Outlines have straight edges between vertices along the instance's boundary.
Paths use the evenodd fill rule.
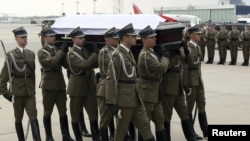
<path fill-rule="evenodd" d="M 139 141 L 171 141 L 173 109 L 181 119 L 187 141 L 207 138 L 202 55 L 198 46 L 201 31 L 194 26 L 188 32 L 190 41 L 187 44 L 182 42 L 178 45 L 180 48 L 166 50 L 165 46 L 156 47 L 155 31 L 150 26 L 145 27 L 139 32 L 143 48 L 135 60 L 131 47 L 136 45 L 138 35 L 131 23 L 120 30 L 115 27 L 107 30 L 104 33 L 106 46 L 100 51 L 96 46 L 85 45 L 85 35 L 80 27 L 69 34 L 73 45 L 55 43 L 55 32 L 50 28 L 43 29 L 44 46 L 38 51 L 38 59 L 42 67 L 39 87 L 43 95 L 46 141 L 54 141 L 51 127 L 54 105 L 60 117 L 62 140 L 74 140 L 69 134 L 66 94 L 70 98 L 71 125 L 76 141 L 83 140 L 79 126 L 83 107 L 89 116 L 93 141 L 111 140 L 108 127 L 112 125 L 113 117 L 116 121 L 114 141 L 136 140 L 135 137 L 126 138 L 131 123 L 138 129 Z M 25 109 L 33 140 L 40 141 L 35 99 L 35 53 L 25 48 L 27 31 L 23 27 L 13 30 L 13 33 L 17 48 L 6 53 L 0 74 L 0 93 L 13 102 L 18 140 L 26 138 L 22 127 Z M 67 89 L 62 67 L 69 70 Z M 100 69 L 98 82 L 94 72 L 97 67 Z M 11 89 L 7 88 L 8 81 Z M 193 127 L 194 109 L 198 111 L 203 137 L 197 135 Z M 156 138 L 150 121 L 155 124 Z"/>

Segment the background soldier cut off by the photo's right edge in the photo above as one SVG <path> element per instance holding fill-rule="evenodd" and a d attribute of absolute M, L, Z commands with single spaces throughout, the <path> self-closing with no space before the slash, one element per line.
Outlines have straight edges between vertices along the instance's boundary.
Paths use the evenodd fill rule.
<path fill-rule="evenodd" d="M 245 31 L 241 32 L 242 38 L 242 53 L 244 62 L 241 66 L 248 66 L 249 65 L 249 47 L 250 47 L 250 25 L 245 25 Z"/>

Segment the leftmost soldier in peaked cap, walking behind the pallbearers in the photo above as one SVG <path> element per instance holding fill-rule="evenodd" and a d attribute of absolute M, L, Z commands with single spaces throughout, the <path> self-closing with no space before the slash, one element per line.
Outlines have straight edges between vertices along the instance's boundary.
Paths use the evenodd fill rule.
<path fill-rule="evenodd" d="M 9 51 L 0 74 L 0 93 L 11 95 L 13 102 L 15 127 L 19 141 L 24 141 L 22 119 L 27 112 L 34 141 L 41 141 L 36 108 L 35 53 L 26 49 L 27 31 L 19 27 L 12 31 L 17 47 Z M 10 88 L 7 88 L 7 82 Z"/>

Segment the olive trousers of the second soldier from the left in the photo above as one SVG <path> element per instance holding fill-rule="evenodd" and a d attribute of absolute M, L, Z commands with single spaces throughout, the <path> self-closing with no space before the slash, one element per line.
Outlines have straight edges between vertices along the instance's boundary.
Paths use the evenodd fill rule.
<path fill-rule="evenodd" d="M 50 117 L 56 104 L 60 117 L 66 116 L 66 90 L 43 90 L 44 117 Z"/>

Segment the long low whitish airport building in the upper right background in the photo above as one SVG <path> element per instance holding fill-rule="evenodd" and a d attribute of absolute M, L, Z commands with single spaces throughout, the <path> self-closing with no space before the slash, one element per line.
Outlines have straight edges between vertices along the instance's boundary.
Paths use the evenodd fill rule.
<path fill-rule="evenodd" d="M 242 0 L 220 0 L 218 5 L 211 6 L 156 7 L 153 10 L 169 15 L 194 15 L 201 22 L 235 23 L 240 17 L 250 17 L 250 5 L 245 5 Z"/>

